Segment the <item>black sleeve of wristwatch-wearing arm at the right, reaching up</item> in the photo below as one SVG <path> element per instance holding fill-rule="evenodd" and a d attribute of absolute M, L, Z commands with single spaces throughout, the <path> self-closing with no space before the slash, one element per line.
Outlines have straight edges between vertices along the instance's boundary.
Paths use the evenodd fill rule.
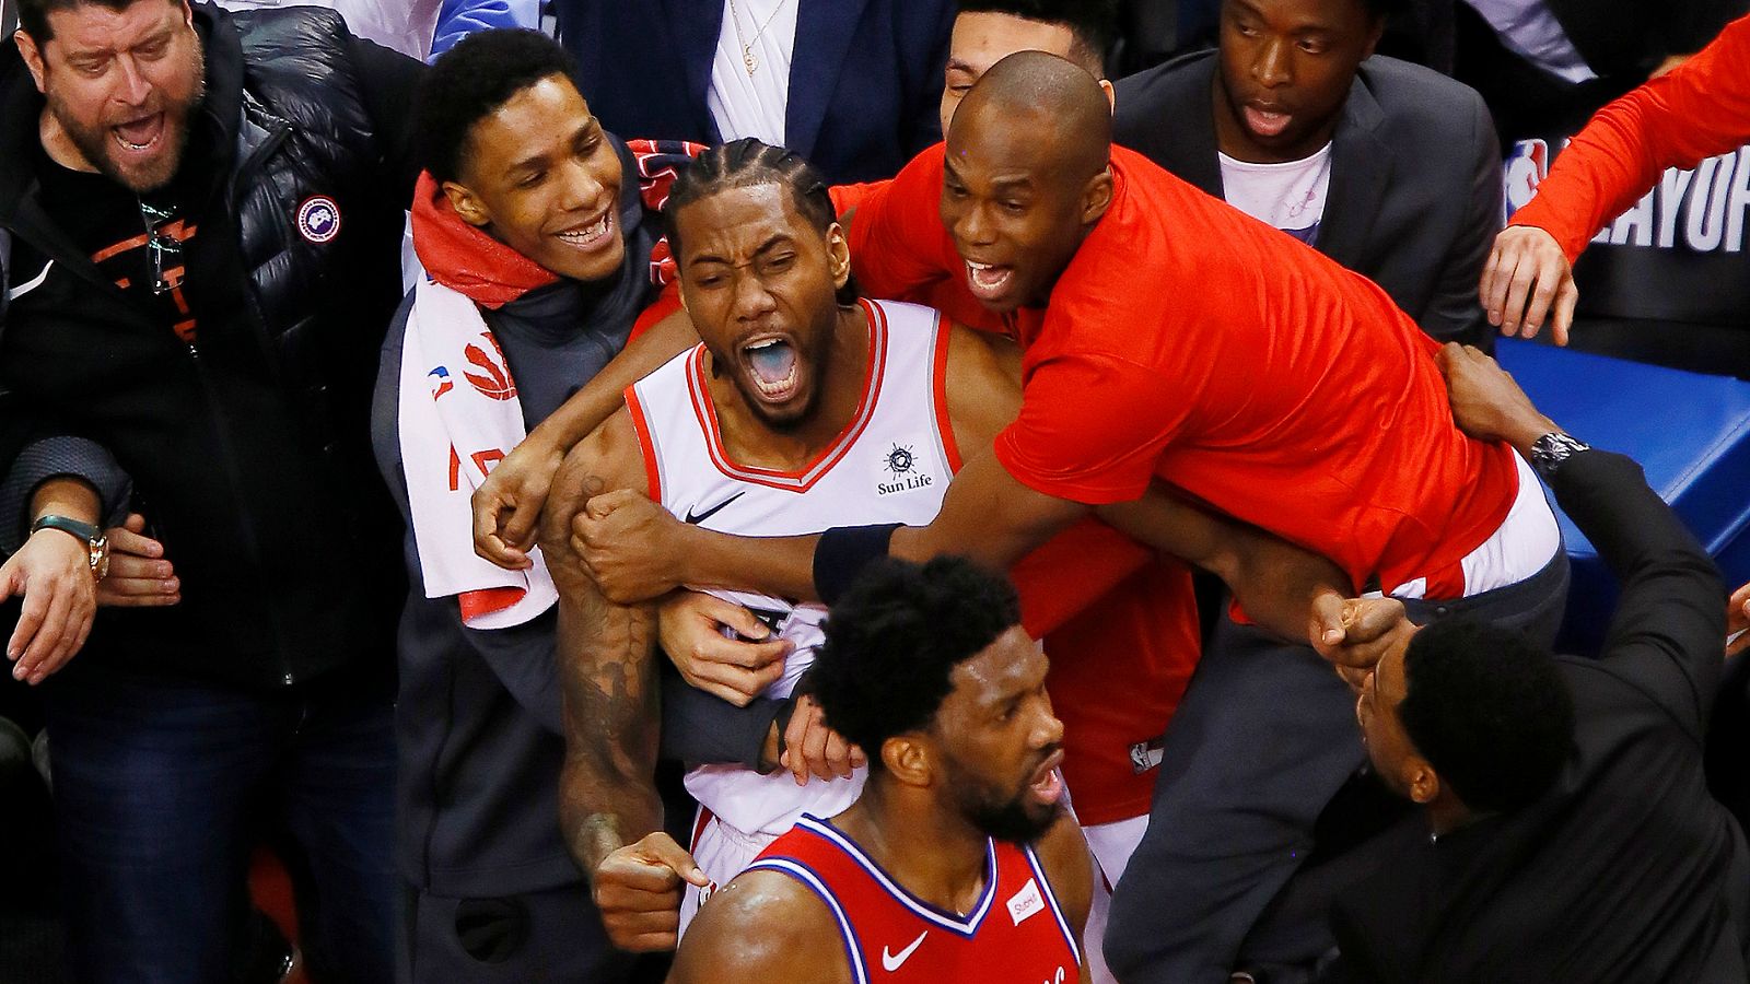
<path fill-rule="evenodd" d="M 1577 453 L 1550 487 L 1622 585 L 1603 660 L 1701 741 L 1726 646 L 1718 569 L 1633 459 Z"/>

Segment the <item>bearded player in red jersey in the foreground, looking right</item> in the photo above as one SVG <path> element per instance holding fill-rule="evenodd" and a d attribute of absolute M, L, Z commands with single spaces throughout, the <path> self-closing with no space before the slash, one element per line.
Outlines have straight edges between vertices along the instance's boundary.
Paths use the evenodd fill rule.
<path fill-rule="evenodd" d="M 1045 672 L 1003 578 L 952 557 L 872 569 L 814 667 L 868 784 L 705 903 L 670 984 L 1080 982 L 1092 875 Z"/>

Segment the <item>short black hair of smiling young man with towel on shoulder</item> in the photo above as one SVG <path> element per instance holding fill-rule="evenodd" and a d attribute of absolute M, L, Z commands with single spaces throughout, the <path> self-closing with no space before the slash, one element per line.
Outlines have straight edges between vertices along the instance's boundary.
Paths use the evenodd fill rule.
<path fill-rule="evenodd" d="M 458 180 L 476 123 L 542 79 L 564 75 L 576 86 L 574 68 L 570 54 L 541 32 L 494 28 L 458 40 L 432 63 L 413 96 L 420 166 L 439 182 Z"/>

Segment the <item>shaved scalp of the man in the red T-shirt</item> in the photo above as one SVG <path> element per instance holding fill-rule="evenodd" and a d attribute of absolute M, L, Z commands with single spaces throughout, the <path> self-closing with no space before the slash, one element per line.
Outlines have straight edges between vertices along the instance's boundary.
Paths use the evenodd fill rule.
<path fill-rule="evenodd" d="M 1111 158 L 1111 102 L 1076 63 L 1017 51 L 992 65 L 961 102 L 948 144 L 998 133 L 1024 138 L 1060 177 L 1087 179 Z"/>

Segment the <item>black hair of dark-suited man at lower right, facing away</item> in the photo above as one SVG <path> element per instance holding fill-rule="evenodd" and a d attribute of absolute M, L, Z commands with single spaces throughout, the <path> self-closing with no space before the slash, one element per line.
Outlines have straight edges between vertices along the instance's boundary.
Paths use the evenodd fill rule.
<path fill-rule="evenodd" d="M 1474 811 L 1542 797 L 1573 749 L 1573 695 L 1556 658 L 1475 618 L 1435 622 L 1404 653 L 1398 720 Z"/>

